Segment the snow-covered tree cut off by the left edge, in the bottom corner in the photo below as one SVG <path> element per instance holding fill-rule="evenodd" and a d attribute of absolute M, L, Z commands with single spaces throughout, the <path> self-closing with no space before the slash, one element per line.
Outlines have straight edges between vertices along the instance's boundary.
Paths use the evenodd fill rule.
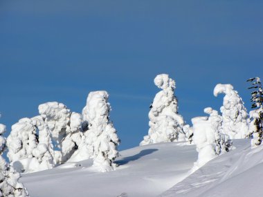
<path fill-rule="evenodd" d="M 0 196 L 28 197 L 26 187 L 19 182 L 20 174 L 2 157 L 6 149 L 6 139 L 2 136 L 5 132 L 6 126 L 0 124 Z"/>

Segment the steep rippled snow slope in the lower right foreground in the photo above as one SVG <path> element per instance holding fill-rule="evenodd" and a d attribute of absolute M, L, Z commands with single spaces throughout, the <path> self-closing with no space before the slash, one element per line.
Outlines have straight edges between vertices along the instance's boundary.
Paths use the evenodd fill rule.
<path fill-rule="evenodd" d="M 263 196 L 263 146 L 251 149 L 247 140 L 235 140 L 237 149 L 211 160 L 161 196 Z"/>

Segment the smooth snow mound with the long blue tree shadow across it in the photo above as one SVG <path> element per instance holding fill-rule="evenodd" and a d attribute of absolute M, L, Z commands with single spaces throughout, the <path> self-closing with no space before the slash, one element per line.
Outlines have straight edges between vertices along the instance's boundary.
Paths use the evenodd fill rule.
<path fill-rule="evenodd" d="M 194 145 L 170 142 L 120 152 L 116 171 L 98 173 L 91 160 L 22 175 L 30 196 L 157 196 L 187 176 L 197 160 Z M 123 196 L 125 196 L 123 194 Z"/>

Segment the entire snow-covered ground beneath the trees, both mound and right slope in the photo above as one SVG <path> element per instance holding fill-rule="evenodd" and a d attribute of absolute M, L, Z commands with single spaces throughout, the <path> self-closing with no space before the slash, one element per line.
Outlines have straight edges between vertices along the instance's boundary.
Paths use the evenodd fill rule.
<path fill-rule="evenodd" d="M 263 196 L 263 146 L 235 140 L 236 149 L 190 174 L 197 151 L 183 142 L 121 151 L 116 171 L 97 172 L 92 160 L 23 174 L 33 197 L 57 196 Z"/>

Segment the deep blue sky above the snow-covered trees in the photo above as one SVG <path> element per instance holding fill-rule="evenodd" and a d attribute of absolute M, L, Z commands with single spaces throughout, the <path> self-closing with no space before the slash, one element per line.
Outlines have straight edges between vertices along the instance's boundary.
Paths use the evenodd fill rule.
<path fill-rule="evenodd" d="M 216 84 L 250 108 L 249 77 L 263 77 L 263 1 L 0 1 L 1 123 L 57 101 L 81 112 L 106 90 L 120 149 L 147 134 L 153 79 L 176 80 L 185 121 L 217 110 Z"/>

